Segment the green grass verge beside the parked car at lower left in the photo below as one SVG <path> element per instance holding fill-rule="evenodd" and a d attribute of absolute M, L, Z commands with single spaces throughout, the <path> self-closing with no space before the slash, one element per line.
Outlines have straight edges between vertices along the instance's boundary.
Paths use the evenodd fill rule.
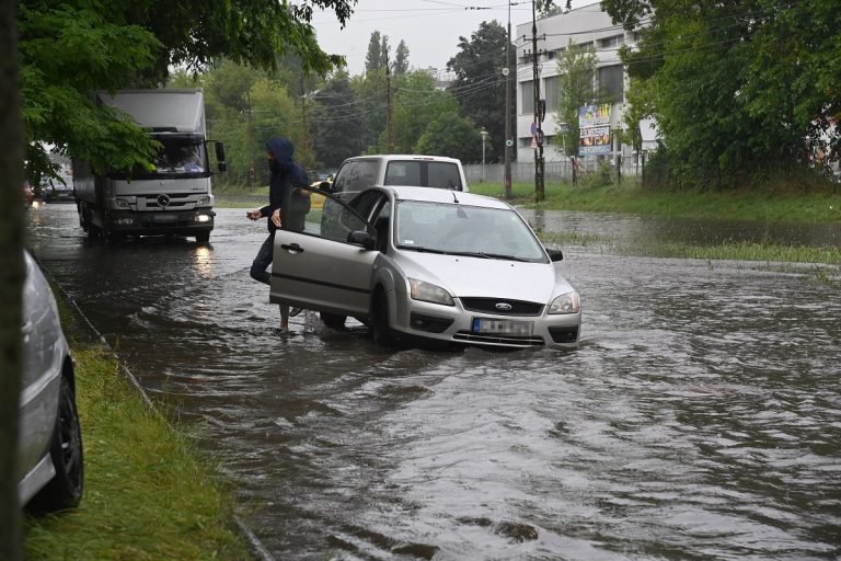
<path fill-rule="evenodd" d="M 76 359 L 85 489 L 78 510 L 26 517 L 25 558 L 251 559 L 214 466 L 145 404 L 60 298 L 59 308 Z"/>

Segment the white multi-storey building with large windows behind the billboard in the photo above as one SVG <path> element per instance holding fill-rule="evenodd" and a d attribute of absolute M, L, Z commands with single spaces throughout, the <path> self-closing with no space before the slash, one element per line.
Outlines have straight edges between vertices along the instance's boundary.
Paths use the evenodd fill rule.
<path fill-rule="evenodd" d="M 572 41 L 596 54 L 598 59 L 594 79 L 595 91 L 602 99 L 611 102 L 610 130 L 622 128 L 625 108 L 624 92 L 627 89 L 627 75 L 619 57 L 623 45 L 633 46 L 638 38 L 635 32 L 627 32 L 622 25 L 614 25 L 610 15 L 601 10 L 600 3 L 585 5 L 569 12 L 553 15 L 537 22 L 537 50 L 540 81 L 540 98 L 545 100 L 546 113 L 542 123 L 545 136 L 543 157 L 546 162 L 564 160 L 563 142 L 576 142 L 577 138 L 565 138 L 558 123 L 558 84 L 560 70 L 557 58 L 566 50 Z M 534 159 L 534 80 L 532 22 L 517 25 L 517 36 L 511 37 L 517 46 L 517 160 L 520 162 Z M 594 100 L 596 102 L 597 100 Z M 653 140 L 653 128 L 643 126 L 644 140 Z M 613 138 L 613 136 L 611 136 Z M 631 146 L 618 146 L 613 142 L 611 152 L 621 151 L 623 156 L 632 153 Z"/>

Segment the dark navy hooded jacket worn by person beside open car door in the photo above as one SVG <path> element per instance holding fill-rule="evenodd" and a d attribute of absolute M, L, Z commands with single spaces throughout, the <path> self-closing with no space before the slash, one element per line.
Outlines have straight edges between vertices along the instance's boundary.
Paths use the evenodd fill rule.
<path fill-rule="evenodd" d="M 293 228 L 291 213 L 295 209 L 300 210 L 302 204 L 297 198 L 292 201 L 291 186 L 309 186 L 310 180 L 307 172 L 299 164 L 292 161 L 292 142 L 286 138 L 272 137 L 266 142 L 266 150 L 275 156 L 276 165 L 272 168 L 272 176 L 268 181 L 268 205 L 260 209 L 263 216 L 268 217 L 268 231 L 277 230 L 275 222 L 272 221 L 272 213 L 280 208 L 280 220 L 284 229 Z M 309 197 L 307 197 L 307 207 L 309 208 Z M 304 210 L 306 213 L 306 210 Z M 290 228 L 291 227 L 291 228 Z"/>

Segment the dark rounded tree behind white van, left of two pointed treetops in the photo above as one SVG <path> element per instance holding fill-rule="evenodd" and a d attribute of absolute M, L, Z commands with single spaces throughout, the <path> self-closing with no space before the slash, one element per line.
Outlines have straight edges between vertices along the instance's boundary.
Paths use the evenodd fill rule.
<path fill-rule="evenodd" d="M 314 96 L 312 148 L 315 160 L 327 168 L 338 168 L 346 159 L 362 153 L 362 117 L 347 72 L 327 80 Z"/>

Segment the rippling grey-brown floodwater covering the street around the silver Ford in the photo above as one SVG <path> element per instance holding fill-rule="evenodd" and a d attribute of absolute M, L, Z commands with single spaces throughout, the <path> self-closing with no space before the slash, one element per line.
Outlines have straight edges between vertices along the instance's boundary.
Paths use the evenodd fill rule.
<path fill-rule="evenodd" d="M 30 213 L 30 245 L 196 427 L 276 559 L 841 556 L 841 297 L 809 265 L 565 247 L 577 351 L 393 352 L 309 312 L 280 335 L 247 274 L 265 230 L 243 214 L 219 210 L 207 247 L 90 244 L 51 205 Z"/>

